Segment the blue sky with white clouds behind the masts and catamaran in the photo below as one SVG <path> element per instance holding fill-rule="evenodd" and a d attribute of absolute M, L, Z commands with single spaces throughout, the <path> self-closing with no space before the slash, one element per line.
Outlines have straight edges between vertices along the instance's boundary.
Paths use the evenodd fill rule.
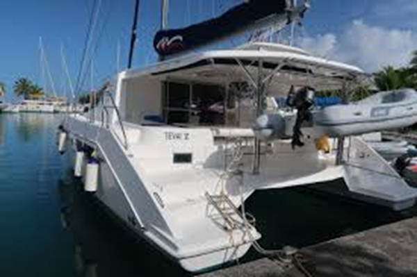
<path fill-rule="evenodd" d="M 95 1 L 101 3 L 92 35 L 91 49 L 95 50 L 88 53 L 85 66 L 90 68 L 92 63 L 91 78 L 90 71 L 79 72 Z M 199 22 L 241 1 L 170 0 L 168 24 L 176 28 Z M 2 0 L 0 81 L 6 83 L 6 101 L 16 101 L 13 84 L 17 78 L 28 77 L 42 85 L 40 37 L 58 94 L 68 93 L 61 48 L 72 82 L 79 80 L 83 84 L 80 91 L 97 87 L 124 69 L 133 7 L 134 0 Z M 152 40 L 160 18 L 159 0 L 141 0 L 133 67 L 156 62 Z M 411 51 L 417 49 L 416 18 L 417 0 L 311 0 L 311 10 L 306 12 L 303 26 L 296 30 L 296 43 L 318 56 L 348 62 L 366 72 L 386 65 L 400 67 L 407 65 Z M 50 83 L 47 82 L 47 92 L 51 92 Z"/>

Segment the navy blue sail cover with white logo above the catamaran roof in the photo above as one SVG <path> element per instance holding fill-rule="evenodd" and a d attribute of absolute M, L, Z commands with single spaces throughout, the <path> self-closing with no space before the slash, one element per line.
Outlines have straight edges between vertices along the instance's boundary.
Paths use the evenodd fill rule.
<path fill-rule="evenodd" d="M 286 14 L 289 8 L 287 2 L 288 0 L 245 1 L 220 17 L 186 28 L 158 31 L 154 37 L 154 48 L 160 56 L 168 56 L 208 44 L 247 28 L 261 19 Z"/>

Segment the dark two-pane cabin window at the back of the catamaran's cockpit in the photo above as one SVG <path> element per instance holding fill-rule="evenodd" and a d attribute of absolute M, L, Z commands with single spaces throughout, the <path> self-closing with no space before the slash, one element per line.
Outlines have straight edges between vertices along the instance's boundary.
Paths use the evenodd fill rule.
<path fill-rule="evenodd" d="M 220 85 L 166 82 L 163 117 L 167 124 L 222 126 L 225 90 Z"/>

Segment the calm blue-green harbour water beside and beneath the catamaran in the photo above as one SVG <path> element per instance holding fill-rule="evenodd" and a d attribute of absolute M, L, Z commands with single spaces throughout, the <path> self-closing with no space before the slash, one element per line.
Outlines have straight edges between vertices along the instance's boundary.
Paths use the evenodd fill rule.
<path fill-rule="evenodd" d="M 83 194 L 71 154 L 56 152 L 59 122 L 0 114 L 0 276 L 184 276 Z M 308 246 L 416 214 L 308 189 L 256 192 L 247 210 L 265 248 Z M 257 257 L 250 251 L 243 261 Z"/>

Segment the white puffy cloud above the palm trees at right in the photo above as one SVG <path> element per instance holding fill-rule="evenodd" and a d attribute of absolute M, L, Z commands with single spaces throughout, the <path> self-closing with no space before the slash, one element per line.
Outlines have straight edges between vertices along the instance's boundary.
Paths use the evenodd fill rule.
<path fill-rule="evenodd" d="M 417 49 L 417 33 L 370 26 L 358 19 L 338 35 L 327 33 L 303 37 L 298 44 L 316 55 L 375 72 L 386 65 L 407 65 L 411 60 L 411 52 Z"/>

